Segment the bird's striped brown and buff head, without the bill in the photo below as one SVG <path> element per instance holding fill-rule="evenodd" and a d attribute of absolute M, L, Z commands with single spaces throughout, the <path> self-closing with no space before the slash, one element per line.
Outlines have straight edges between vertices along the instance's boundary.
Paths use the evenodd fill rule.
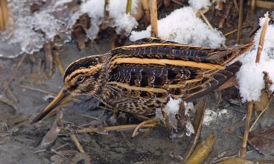
<path fill-rule="evenodd" d="M 66 68 L 64 86 L 71 94 L 99 96 L 105 55 L 93 55 L 74 61 Z"/>

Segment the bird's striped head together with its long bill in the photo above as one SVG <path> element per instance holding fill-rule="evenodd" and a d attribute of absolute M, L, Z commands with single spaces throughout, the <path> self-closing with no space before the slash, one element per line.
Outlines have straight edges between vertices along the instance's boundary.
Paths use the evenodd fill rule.
<path fill-rule="evenodd" d="M 104 55 L 93 55 L 78 59 L 70 64 L 64 73 L 64 87 L 56 98 L 34 118 L 32 123 L 42 120 L 69 96 L 87 94 L 98 97 L 102 87 L 100 75 L 104 61 Z"/>

